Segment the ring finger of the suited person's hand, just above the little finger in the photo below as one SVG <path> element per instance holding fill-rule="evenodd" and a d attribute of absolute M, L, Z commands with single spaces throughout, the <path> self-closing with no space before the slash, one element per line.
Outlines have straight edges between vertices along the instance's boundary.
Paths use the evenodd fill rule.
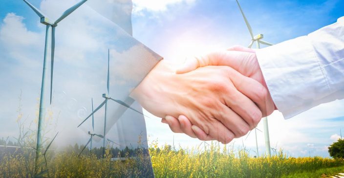
<path fill-rule="evenodd" d="M 238 92 L 240 93 L 240 92 Z M 240 93 L 241 94 L 241 93 Z M 242 95 L 242 94 L 241 94 Z M 251 101 L 251 100 L 249 100 Z M 252 102 L 252 101 L 251 101 Z M 253 103 L 257 108 L 257 106 Z M 223 108 L 215 113 L 216 119 L 218 119 L 225 127 L 233 132 L 235 138 L 239 138 L 247 134 L 251 129 L 255 128 L 255 125 L 250 126 L 240 114 L 233 111 L 228 106 L 223 105 Z M 233 107 L 233 105 L 231 106 Z M 257 108 L 258 110 L 258 108 Z M 258 110 L 259 111 L 259 110 Z"/>

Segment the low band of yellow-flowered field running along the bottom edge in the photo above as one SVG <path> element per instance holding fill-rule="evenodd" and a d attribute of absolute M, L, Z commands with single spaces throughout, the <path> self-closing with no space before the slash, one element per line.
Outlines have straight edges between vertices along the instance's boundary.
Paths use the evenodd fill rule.
<path fill-rule="evenodd" d="M 171 146 L 150 147 L 156 178 L 317 178 L 344 171 L 343 159 L 322 157 L 287 157 L 282 151 L 272 157 L 250 157 L 245 150 L 213 144 L 205 150 L 179 149 Z M 2 156 L 0 177 L 32 177 L 33 156 Z M 137 153 L 135 159 L 111 161 L 112 156 L 98 159 L 76 153 L 47 155 L 44 177 L 140 177 L 145 175 L 149 159 Z M 44 167 L 44 166 L 43 166 Z M 44 172 L 45 171 L 45 172 Z"/>

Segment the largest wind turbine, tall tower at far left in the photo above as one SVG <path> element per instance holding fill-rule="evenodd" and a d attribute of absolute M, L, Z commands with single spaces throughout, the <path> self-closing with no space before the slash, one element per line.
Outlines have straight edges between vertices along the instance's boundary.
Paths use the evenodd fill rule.
<path fill-rule="evenodd" d="M 61 17 L 58 18 L 55 22 L 52 22 L 47 18 L 46 15 L 44 15 L 38 8 L 33 6 L 30 2 L 27 0 L 23 0 L 41 19 L 41 23 L 46 25 L 45 29 L 45 45 L 44 45 L 44 59 L 43 59 L 43 74 L 42 74 L 42 86 L 41 86 L 41 97 L 40 97 L 40 111 L 38 116 L 38 129 L 37 129 L 37 145 L 36 145 L 36 160 L 35 160 L 35 170 L 38 168 L 39 165 L 39 158 L 41 155 L 41 147 L 42 147 L 42 127 L 43 127 L 43 118 L 44 118 L 44 112 L 45 112 L 45 106 L 44 106 L 44 93 L 45 93 L 45 82 L 47 81 L 47 78 L 45 77 L 46 74 L 46 59 L 48 58 L 48 50 L 51 46 L 51 68 L 50 68 L 50 104 L 51 104 L 51 95 L 52 95 L 52 85 L 53 85 L 53 68 L 54 68 L 54 53 L 55 53 L 55 28 L 59 22 L 61 22 L 65 17 L 67 17 L 69 14 L 71 14 L 74 10 L 76 10 L 78 7 L 80 7 L 83 3 L 85 3 L 87 0 L 81 0 L 74 6 L 70 7 L 64 13 L 62 13 Z M 51 29 L 51 34 L 50 34 Z M 49 43 L 51 39 L 51 43 Z M 35 171 L 37 173 L 37 171 Z"/>

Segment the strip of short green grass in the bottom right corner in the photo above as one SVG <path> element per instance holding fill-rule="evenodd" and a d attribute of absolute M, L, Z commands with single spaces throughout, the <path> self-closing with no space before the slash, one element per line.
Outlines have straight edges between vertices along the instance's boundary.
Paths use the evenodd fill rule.
<path fill-rule="evenodd" d="M 322 168 L 310 172 L 302 172 L 290 174 L 288 176 L 283 176 L 282 178 L 328 178 L 330 176 L 335 176 L 338 173 L 344 172 L 344 166 L 332 167 L 332 168 Z"/>

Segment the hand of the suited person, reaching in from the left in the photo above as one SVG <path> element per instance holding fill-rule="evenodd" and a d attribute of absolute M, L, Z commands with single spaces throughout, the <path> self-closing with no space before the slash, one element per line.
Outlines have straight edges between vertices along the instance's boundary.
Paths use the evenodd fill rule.
<path fill-rule="evenodd" d="M 230 142 L 256 127 L 262 113 L 249 98 L 265 97 L 267 89 L 230 67 L 200 67 L 176 74 L 159 62 L 132 96 L 158 117 L 184 114 L 209 137 Z"/>

